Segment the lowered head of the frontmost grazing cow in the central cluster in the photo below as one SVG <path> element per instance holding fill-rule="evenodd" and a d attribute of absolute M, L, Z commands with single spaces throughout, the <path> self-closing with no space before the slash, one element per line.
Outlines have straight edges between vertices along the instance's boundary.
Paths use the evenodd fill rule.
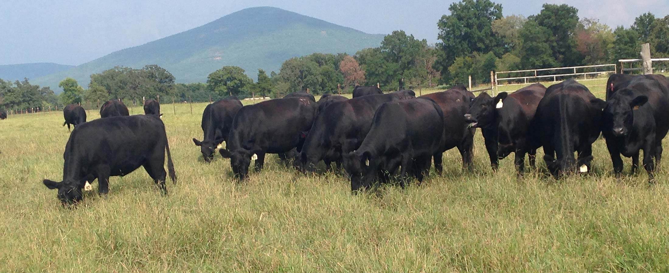
<path fill-rule="evenodd" d="M 351 177 L 351 191 L 369 188 L 374 180 L 375 167 L 370 152 L 350 152 L 343 156 L 344 169 Z"/>

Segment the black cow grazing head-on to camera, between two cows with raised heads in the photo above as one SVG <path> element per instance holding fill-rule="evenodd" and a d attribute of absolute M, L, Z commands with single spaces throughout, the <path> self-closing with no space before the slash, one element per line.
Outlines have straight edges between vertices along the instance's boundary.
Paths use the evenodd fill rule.
<path fill-rule="evenodd" d="M 546 90 L 531 122 L 531 138 L 543 146 L 544 160 L 555 178 L 575 172 L 579 166 L 579 172 L 591 170 L 592 144 L 601 131 L 604 106 L 605 101 L 574 79 Z"/>

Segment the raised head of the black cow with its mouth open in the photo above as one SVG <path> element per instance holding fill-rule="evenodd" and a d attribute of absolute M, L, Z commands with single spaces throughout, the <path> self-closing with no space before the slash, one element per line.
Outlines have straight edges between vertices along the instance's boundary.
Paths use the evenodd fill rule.
<path fill-rule="evenodd" d="M 470 103 L 469 110 L 465 115 L 470 127 L 487 127 L 494 123 L 495 111 L 503 106 L 502 101 L 506 98 L 506 92 L 490 97 L 488 93 L 481 93 Z"/>

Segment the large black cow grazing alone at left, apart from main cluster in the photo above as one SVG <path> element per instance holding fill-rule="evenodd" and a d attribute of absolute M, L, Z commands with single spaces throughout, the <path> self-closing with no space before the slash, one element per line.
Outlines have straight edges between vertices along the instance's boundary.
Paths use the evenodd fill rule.
<path fill-rule="evenodd" d="M 169 176 L 176 183 L 165 125 L 157 115 L 95 119 L 72 131 L 63 154 L 63 181 L 43 180 L 43 184 L 58 189 L 63 204 L 76 203 L 93 180 L 98 180 L 98 193 L 107 194 L 110 176 L 125 176 L 143 166 L 167 194 L 165 152 Z"/>

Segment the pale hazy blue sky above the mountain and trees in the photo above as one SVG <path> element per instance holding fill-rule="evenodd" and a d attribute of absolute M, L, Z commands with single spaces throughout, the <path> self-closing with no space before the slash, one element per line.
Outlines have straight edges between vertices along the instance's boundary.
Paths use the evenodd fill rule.
<path fill-rule="evenodd" d="M 651 11 L 669 14 L 668 0 L 493 0 L 504 15 L 539 13 L 566 3 L 579 17 L 629 27 Z M 0 0 L 0 65 L 54 62 L 79 65 L 113 51 L 187 31 L 247 7 L 272 6 L 367 33 L 402 29 L 436 43 L 437 21 L 454 1 L 436 0 Z"/>

